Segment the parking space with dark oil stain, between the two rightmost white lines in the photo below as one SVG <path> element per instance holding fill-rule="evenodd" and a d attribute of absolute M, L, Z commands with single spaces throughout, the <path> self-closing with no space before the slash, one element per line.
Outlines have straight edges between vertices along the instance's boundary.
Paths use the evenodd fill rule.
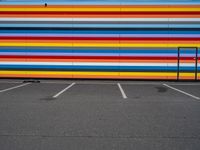
<path fill-rule="evenodd" d="M 197 85 L 196 87 L 200 89 L 200 85 Z M 193 99 L 191 96 L 171 89 L 163 84 L 124 84 L 123 88 L 129 100 L 140 102 L 187 102 Z"/>

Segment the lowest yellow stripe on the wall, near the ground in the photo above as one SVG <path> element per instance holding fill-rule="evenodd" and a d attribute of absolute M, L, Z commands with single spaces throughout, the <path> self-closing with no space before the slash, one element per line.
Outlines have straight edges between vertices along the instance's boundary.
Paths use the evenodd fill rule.
<path fill-rule="evenodd" d="M 176 76 L 176 72 L 89 72 L 89 71 L 0 71 L 0 75 L 3 74 L 32 74 L 32 75 L 119 75 L 120 76 Z M 181 76 L 193 76 L 194 73 L 181 73 Z"/>

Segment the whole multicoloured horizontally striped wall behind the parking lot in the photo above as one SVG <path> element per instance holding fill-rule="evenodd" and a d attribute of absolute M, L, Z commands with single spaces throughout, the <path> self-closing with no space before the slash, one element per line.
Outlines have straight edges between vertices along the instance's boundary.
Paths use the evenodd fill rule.
<path fill-rule="evenodd" d="M 200 4 L 0 3 L 0 77 L 177 79 L 178 47 L 199 57 Z M 193 49 L 180 57 L 194 79 Z"/>

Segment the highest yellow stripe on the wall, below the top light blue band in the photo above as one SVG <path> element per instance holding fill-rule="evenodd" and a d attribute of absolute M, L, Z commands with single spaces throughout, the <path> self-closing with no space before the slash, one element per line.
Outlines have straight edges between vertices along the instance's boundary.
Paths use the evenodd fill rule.
<path fill-rule="evenodd" d="M 31 8 L 29 7 L 28 9 L 26 8 L 17 8 L 17 7 L 0 7 L 0 11 L 4 11 L 4 12 L 8 12 L 8 11 L 19 11 L 19 12 L 26 12 L 26 11 L 36 11 L 36 12 L 49 12 L 49 11 L 53 11 L 53 12 L 77 12 L 77 11 L 84 11 L 84 12 L 96 12 L 96 11 L 100 11 L 100 12 L 113 12 L 113 11 L 125 11 L 125 12 L 149 12 L 149 11 L 153 11 L 153 12 L 179 12 L 179 11 L 183 11 L 183 12 L 198 12 L 200 9 L 200 7 L 137 7 L 137 6 L 132 6 L 132 7 L 99 7 L 99 6 L 90 6 L 90 7 L 86 7 L 86 6 L 65 6 L 65 7 L 35 7 L 35 8 Z"/>

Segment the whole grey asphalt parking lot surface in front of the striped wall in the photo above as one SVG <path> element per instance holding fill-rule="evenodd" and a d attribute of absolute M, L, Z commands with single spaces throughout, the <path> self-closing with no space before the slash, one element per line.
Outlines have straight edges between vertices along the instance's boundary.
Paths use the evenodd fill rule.
<path fill-rule="evenodd" d="M 0 80 L 0 150 L 199 150 L 200 82 Z"/>

